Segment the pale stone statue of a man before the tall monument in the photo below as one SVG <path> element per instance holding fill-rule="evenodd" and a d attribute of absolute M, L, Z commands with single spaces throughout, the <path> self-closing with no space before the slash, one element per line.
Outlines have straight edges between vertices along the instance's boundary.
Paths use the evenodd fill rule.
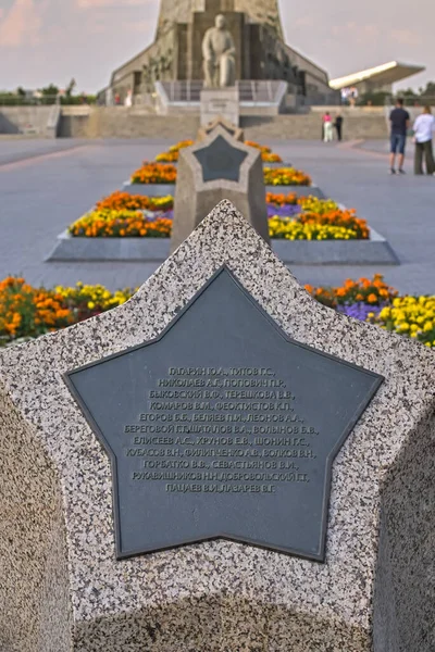
<path fill-rule="evenodd" d="M 219 14 L 215 26 L 206 32 L 202 41 L 206 88 L 225 88 L 236 83 L 236 48 L 226 29 L 225 16 Z"/>

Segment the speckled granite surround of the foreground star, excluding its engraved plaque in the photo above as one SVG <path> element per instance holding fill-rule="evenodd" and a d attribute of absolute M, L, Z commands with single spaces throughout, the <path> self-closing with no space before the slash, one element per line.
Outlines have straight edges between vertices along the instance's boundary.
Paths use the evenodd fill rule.
<path fill-rule="evenodd" d="M 226 541 L 115 561 L 109 460 L 61 375 L 156 337 L 223 263 L 289 336 L 386 378 L 334 464 L 325 564 Z M 0 354 L 0 649 L 433 652 L 434 377 L 223 202 L 129 302 Z"/>

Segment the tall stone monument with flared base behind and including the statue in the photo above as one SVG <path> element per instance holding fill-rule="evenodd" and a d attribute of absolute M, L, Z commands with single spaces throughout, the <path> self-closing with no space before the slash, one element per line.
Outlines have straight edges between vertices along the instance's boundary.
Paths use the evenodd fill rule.
<path fill-rule="evenodd" d="M 199 93 L 202 82 L 210 89 L 231 88 L 238 80 L 282 80 L 295 96 L 310 95 L 315 101 L 332 96 L 327 73 L 286 45 L 279 1 L 285 2 L 159 0 L 154 41 L 113 72 L 112 92 L 123 100 L 133 91 L 140 102 L 149 101 L 156 88 L 166 92 L 172 83 L 188 87 L 190 97 L 191 89 Z M 227 34 L 213 36 L 216 16 Z M 160 84 L 166 87 L 160 90 Z"/>

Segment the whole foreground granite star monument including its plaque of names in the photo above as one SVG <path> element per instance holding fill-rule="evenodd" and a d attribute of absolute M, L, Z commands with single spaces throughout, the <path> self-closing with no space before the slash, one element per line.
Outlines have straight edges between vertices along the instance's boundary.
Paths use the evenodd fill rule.
<path fill-rule="evenodd" d="M 434 375 L 223 201 L 0 353 L 0 649 L 433 652 Z"/>

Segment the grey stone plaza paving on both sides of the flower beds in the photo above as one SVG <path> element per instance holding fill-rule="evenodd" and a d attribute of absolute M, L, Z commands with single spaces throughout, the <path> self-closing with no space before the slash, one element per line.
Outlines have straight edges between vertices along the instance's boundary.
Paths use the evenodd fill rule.
<path fill-rule="evenodd" d="M 183 137 L 183 134 L 181 134 Z M 0 139 L 0 278 L 24 275 L 47 287 L 101 283 L 140 285 L 156 269 L 141 263 L 45 263 L 55 237 L 96 200 L 121 188 L 164 140 L 75 141 Z M 284 160 L 310 173 L 328 197 L 353 206 L 395 249 L 399 266 L 297 265 L 301 283 L 338 285 L 347 277 L 385 275 L 401 292 L 435 291 L 435 178 L 389 176 L 386 145 L 271 142 Z"/>

